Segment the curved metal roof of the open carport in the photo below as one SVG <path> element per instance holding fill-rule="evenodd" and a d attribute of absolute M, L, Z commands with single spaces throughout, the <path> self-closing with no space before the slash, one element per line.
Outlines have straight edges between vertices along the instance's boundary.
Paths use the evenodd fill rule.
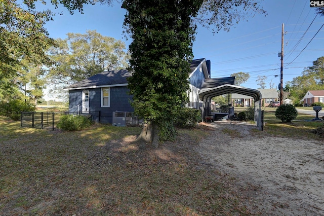
<path fill-rule="evenodd" d="M 199 93 L 199 99 L 204 102 L 211 102 L 213 97 L 228 93 L 248 95 L 253 97 L 255 102 L 261 100 L 262 98 L 261 92 L 256 89 L 249 89 L 242 86 L 224 84 L 213 88 L 202 89 L 202 91 Z"/>

